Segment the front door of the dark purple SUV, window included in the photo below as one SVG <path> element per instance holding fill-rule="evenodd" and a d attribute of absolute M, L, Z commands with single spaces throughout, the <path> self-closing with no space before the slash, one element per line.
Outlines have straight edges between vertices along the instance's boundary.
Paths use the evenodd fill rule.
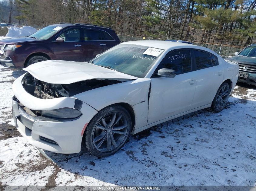
<path fill-rule="evenodd" d="M 81 41 L 81 30 L 79 28 L 69 28 L 59 34 L 64 38 L 63 43 L 53 43 L 55 60 L 82 61 L 83 42 Z"/>

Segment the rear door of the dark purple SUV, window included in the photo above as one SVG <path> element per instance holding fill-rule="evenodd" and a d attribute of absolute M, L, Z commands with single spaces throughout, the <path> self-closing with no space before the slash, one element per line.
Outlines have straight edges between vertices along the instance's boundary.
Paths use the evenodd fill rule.
<path fill-rule="evenodd" d="M 102 40 L 100 30 L 83 28 L 83 61 L 88 62 L 97 54 L 105 51 L 106 43 Z"/>

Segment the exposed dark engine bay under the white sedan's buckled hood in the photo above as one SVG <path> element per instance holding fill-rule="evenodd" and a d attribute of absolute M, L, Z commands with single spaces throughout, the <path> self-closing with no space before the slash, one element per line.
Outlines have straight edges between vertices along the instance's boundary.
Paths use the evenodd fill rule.
<path fill-rule="evenodd" d="M 58 97 L 72 97 L 85 91 L 121 82 L 123 81 L 90 79 L 71 84 L 51 84 L 40 81 L 27 72 L 22 79 L 22 86 L 29 94 L 37 98 L 52 99 Z"/>

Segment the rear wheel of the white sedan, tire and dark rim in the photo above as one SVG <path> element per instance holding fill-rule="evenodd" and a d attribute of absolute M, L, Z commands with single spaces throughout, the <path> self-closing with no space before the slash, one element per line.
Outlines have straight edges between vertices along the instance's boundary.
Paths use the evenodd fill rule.
<path fill-rule="evenodd" d="M 229 94 L 230 94 L 229 85 L 228 85 L 228 83 L 224 82 L 219 87 L 219 89 L 211 103 L 211 107 L 209 107 L 209 110 L 214 113 L 218 113 L 218 112 L 222 111 L 224 109 L 224 107 L 226 106 L 226 104 L 228 103 Z"/>

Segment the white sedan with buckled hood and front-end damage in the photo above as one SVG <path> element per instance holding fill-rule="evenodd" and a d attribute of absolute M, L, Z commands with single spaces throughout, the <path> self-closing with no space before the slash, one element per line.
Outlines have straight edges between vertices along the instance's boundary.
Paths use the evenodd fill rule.
<path fill-rule="evenodd" d="M 38 148 L 98 157 L 135 134 L 210 107 L 221 111 L 238 65 L 210 49 L 180 42 L 121 43 L 90 62 L 48 60 L 13 83 L 18 131 Z"/>

